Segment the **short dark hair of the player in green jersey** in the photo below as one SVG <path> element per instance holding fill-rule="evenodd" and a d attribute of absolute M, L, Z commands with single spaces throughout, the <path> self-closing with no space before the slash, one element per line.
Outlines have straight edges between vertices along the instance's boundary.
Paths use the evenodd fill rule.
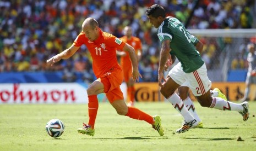
<path fill-rule="evenodd" d="M 161 16 L 162 18 L 166 17 L 165 9 L 161 7 L 161 5 L 159 4 L 151 5 L 151 7 L 146 9 L 146 15 L 147 16 L 151 15 L 153 18 L 157 18 L 159 16 Z"/>

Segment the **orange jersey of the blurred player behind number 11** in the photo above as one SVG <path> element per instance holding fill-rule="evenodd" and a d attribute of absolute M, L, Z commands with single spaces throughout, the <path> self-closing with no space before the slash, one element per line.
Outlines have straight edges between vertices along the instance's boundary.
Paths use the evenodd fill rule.
<path fill-rule="evenodd" d="M 120 39 L 123 42 L 126 42 L 129 45 L 131 45 L 135 49 L 136 54 L 138 54 L 138 50 L 142 49 L 141 41 L 137 37 L 132 36 L 131 39 L 128 39 L 127 36 L 123 36 Z M 132 68 L 132 62 L 130 61 L 128 52 L 126 52 L 126 56 L 121 56 L 120 64 L 121 64 L 122 68 L 124 68 L 124 66 L 126 68 Z"/>

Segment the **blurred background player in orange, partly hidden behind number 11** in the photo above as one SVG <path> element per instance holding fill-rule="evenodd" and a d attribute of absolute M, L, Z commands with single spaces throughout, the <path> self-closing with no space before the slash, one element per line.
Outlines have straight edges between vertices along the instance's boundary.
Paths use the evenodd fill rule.
<path fill-rule="evenodd" d="M 135 54 L 137 55 L 137 60 L 141 57 L 141 41 L 139 38 L 132 35 L 132 28 L 130 26 L 124 27 L 124 36 L 120 38 L 123 42 L 131 45 L 135 49 Z M 117 55 L 121 56 L 120 64 L 123 69 L 124 82 L 127 85 L 127 102 L 128 106 L 134 106 L 134 80 L 132 78 L 132 63 L 130 62 L 130 57 L 128 52 L 117 51 Z"/>

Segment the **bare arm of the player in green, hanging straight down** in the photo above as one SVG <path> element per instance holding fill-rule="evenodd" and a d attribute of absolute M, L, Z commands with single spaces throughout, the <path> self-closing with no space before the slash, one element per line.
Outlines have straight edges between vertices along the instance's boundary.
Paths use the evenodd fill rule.
<path fill-rule="evenodd" d="M 164 78 L 165 63 L 170 56 L 170 40 L 164 40 L 160 51 L 159 68 L 158 68 L 158 84 L 162 87 L 162 80 L 166 82 Z"/>

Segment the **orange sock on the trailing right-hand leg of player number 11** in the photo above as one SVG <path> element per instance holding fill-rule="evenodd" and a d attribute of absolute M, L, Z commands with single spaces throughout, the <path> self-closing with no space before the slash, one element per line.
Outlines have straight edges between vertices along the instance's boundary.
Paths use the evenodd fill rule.
<path fill-rule="evenodd" d="M 128 112 L 126 114 L 127 117 L 137 120 L 144 120 L 149 124 L 154 124 L 154 118 L 151 115 L 146 114 L 143 111 L 140 111 L 138 108 L 135 107 L 128 107 Z"/>

